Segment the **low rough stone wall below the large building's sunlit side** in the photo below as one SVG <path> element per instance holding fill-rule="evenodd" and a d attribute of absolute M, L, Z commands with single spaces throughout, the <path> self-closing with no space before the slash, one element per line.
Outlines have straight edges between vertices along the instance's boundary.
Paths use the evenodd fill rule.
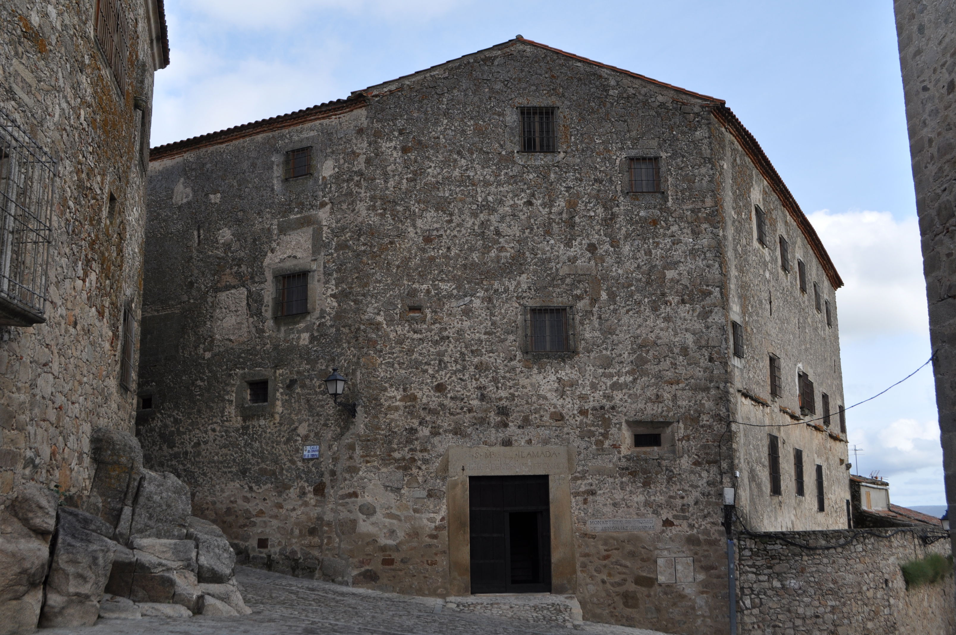
<path fill-rule="evenodd" d="M 906 528 L 740 536 L 739 632 L 956 633 L 952 573 L 907 589 L 900 569 L 930 553 L 948 556 L 949 540 L 924 543 L 939 534 Z"/>

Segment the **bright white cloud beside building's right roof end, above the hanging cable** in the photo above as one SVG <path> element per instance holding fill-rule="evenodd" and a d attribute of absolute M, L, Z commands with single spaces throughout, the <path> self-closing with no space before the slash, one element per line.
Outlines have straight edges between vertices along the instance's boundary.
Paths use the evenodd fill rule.
<path fill-rule="evenodd" d="M 837 292 L 841 339 L 927 331 L 916 217 L 827 209 L 809 215 L 846 286 Z"/>

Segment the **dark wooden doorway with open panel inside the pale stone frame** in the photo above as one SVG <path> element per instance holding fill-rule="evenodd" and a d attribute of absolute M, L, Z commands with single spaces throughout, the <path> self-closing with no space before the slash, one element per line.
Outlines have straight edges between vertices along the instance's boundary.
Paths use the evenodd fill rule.
<path fill-rule="evenodd" d="M 471 593 L 551 591 L 548 476 L 470 476 Z"/>

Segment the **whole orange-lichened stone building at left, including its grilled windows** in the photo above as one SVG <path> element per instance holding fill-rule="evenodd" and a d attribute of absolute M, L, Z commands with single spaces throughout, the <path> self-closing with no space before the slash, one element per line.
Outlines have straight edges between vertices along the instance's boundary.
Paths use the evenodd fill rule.
<path fill-rule="evenodd" d="M 135 418 L 153 73 L 163 0 L 0 13 L 0 509 L 91 484 L 94 427 Z"/>

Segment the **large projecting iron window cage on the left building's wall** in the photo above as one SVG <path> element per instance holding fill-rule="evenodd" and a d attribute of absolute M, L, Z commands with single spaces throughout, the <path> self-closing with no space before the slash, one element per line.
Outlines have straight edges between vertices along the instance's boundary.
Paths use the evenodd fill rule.
<path fill-rule="evenodd" d="M 56 162 L 0 110 L 0 324 L 46 321 Z"/>

